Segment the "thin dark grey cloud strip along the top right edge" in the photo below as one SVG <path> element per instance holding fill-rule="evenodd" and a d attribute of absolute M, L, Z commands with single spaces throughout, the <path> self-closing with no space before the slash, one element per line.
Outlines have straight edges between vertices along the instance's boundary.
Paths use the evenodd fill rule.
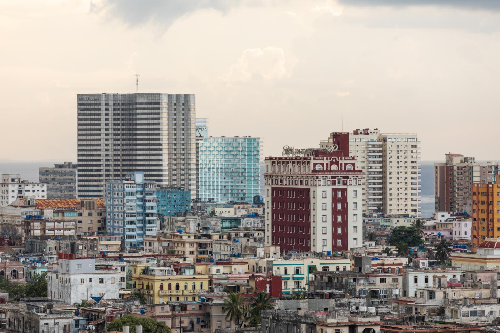
<path fill-rule="evenodd" d="M 449 6 L 476 10 L 500 10 L 500 1 L 492 0 L 338 0 L 350 6 Z"/>

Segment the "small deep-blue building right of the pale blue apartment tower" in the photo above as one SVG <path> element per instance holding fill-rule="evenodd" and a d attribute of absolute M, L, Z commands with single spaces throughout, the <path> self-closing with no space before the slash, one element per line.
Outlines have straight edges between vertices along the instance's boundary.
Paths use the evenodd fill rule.
<path fill-rule="evenodd" d="M 156 189 L 156 209 L 163 216 L 179 216 L 191 210 L 191 191 L 179 186 Z"/>

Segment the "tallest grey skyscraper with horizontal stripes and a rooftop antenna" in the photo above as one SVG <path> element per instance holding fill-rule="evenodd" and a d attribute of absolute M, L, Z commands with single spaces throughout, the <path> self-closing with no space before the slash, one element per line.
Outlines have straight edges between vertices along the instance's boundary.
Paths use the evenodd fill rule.
<path fill-rule="evenodd" d="M 143 171 L 195 196 L 194 94 L 78 94 L 78 197 Z"/>

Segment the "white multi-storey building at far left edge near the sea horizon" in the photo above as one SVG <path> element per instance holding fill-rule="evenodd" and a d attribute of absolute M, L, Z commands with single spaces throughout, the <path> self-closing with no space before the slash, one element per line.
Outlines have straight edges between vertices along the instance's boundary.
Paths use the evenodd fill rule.
<path fill-rule="evenodd" d="M 24 195 L 34 195 L 36 199 L 45 199 L 47 185 L 41 182 L 21 180 L 21 176 L 15 173 L 1 175 L 0 206 L 5 207 L 15 199 L 22 199 Z"/>

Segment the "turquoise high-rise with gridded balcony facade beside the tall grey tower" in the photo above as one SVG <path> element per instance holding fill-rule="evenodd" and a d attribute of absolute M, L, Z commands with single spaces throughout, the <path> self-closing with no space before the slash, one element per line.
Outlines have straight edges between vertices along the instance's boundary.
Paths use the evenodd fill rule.
<path fill-rule="evenodd" d="M 253 202 L 260 193 L 258 137 L 196 137 L 196 198 Z"/>

